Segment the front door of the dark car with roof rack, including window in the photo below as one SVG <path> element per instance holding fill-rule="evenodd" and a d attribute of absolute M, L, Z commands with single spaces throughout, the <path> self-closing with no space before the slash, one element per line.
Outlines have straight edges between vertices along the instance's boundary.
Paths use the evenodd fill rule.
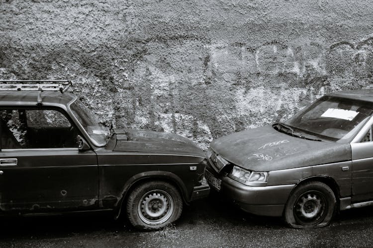
<path fill-rule="evenodd" d="M 0 108 L 1 210 L 44 212 L 98 206 L 93 150 L 80 151 L 78 128 L 57 108 Z"/>

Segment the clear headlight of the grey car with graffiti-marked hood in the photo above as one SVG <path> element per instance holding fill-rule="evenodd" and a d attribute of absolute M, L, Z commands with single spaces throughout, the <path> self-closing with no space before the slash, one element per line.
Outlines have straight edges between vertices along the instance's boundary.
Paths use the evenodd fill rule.
<path fill-rule="evenodd" d="M 251 172 L 241 167 L 234 166 L 230 174 L 232 179 L 248 186 L 267 185 L 268 172 Z"/>

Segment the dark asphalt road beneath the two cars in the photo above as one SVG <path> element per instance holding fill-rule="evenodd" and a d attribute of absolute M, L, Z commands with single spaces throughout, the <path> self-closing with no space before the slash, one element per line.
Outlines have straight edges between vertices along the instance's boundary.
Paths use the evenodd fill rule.
<path fill-rule="evenodd" d="M 247 214 L 216 195 L 184 208 L 157 232 L 106 215 L 0 218 L 0 247 L 372 247 L 373 207 L 347 210 L 319 229 Z"/>

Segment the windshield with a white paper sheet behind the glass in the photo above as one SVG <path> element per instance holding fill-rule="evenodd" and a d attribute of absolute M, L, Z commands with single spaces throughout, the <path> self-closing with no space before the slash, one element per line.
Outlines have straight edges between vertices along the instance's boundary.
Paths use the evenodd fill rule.
<path fill-rule="evenodd" d="M 371 104 L 355 99 L 324 96 L 286 122 L 296 132 L 348 143 L 368 121 Z"/>

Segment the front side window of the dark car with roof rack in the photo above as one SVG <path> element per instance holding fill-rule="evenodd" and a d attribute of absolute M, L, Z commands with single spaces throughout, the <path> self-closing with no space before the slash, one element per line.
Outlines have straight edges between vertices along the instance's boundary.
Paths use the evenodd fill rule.
<path fill-rule="evenodd" d="M 74 125 L 58 110 L 0 109 L 1 147 L 77 148 Z"/>

